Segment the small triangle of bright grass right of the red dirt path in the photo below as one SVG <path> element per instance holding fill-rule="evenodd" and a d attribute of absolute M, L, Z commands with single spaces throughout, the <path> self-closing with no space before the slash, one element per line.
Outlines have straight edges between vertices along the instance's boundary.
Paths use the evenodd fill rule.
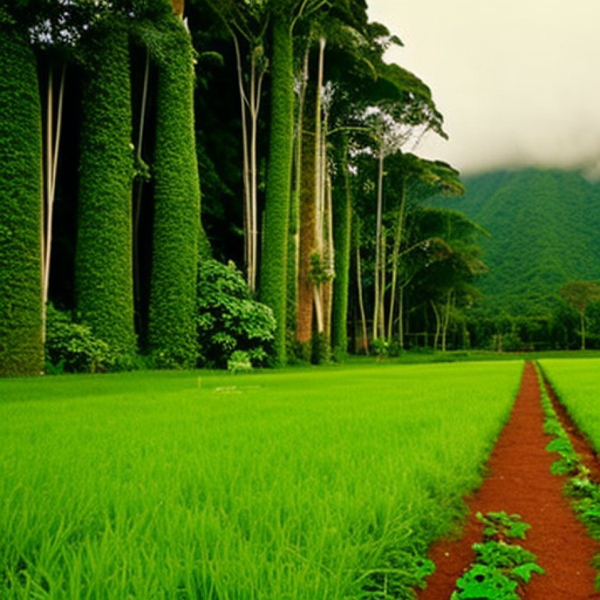
<path fill-rule="evenodd" d="M 594 450 L 600 451 L 600 359 L 539 361 L 552 387 Z"/>

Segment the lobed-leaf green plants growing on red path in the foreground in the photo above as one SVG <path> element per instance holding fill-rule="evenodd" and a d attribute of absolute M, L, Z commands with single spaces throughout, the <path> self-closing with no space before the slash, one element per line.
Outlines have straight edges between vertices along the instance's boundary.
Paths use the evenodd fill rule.
<path fill-rule="evenodd" d="M 542 574 L 535 554 L 512 543 L 525 539 L 528 523 L 518 514 L 504 511 L 477 512 L 483 526 L 483 542 L 475 543 L 475 560 L 457 581 L 451 600 L 517 600 L 517 588 L 534 573 Z"/>

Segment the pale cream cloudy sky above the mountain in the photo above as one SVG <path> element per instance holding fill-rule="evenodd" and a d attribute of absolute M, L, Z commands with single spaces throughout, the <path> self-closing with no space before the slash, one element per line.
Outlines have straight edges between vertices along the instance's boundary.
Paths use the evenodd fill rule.
<path fill-rule="evenodd" d="M 414 152 L 463 174 L 600 174 L 600 0 L 367 0 L 403 41 L 386 59 L 431 88 L 450 139 Z"/>

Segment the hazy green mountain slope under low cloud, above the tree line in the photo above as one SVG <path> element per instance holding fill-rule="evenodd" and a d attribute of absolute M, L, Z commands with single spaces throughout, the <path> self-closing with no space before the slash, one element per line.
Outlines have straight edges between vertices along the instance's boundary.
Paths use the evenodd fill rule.
<path fill-rule="evenodd" d="M 600 182 L 579 172 L 529 168 L 466 177 L 451 208 L 490 232 L 483 306 L 541 314 L 570 279 L 600 280 Z M 448 201 L 444 203 L 448 206 Z"/>

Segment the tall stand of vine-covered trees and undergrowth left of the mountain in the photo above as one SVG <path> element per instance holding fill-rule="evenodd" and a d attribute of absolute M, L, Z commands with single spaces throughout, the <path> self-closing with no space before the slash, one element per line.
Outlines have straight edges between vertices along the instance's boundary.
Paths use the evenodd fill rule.
<path fill-rule="evenodd" d="M 417 154 L 443 117 L 367 8 L 1 0 L 0 373 L 494 346 L 480 242 L 517 196 L 450 208 Z"/>

